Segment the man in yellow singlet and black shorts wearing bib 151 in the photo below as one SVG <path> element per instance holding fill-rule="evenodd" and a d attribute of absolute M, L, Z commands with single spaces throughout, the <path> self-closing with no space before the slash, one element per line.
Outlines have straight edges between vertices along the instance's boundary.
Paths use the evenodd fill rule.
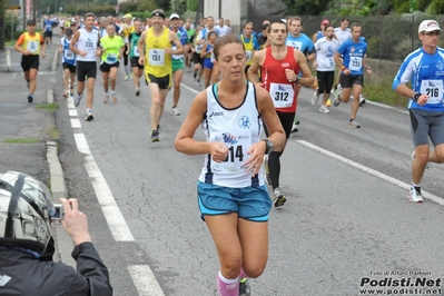
<path fill-rule="evenodd" d="M 171 87 L 171 55 L 184 55 L 184 47 L 174 31 L 164 28 L 165 12 L 156 9 L 151 13 L 152 27 L 145 30 L 137 43 L 139 63 L 145 65 L 145 78 L 151 92 L 151 142 L 159 141 L 160 118 L 165 100 Z M 172 50 L 171 45 L 176 46 Z M 145 52 L 145 55 L 142 55 Z"/>

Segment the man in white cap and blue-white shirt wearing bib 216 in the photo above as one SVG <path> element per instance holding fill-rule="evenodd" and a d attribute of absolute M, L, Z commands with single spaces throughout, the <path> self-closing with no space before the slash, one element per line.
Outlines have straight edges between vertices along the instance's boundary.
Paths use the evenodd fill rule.
<path fill-rule="evenodd" d="M 413 203 L 423 203 L 421 180 L 427 161 L 444 162 L 444 49 L 437 46 L 442 31 L 435 20 L 421 22 L 422 47 L 405 58 L 392 86 L 397 93 L 411 98 L 408 110 L 415 151 L 407 197 Z M 408 81 L 412 89 L 406 86 Z M 432 152 L 428 138 L 435 146 Z"/>

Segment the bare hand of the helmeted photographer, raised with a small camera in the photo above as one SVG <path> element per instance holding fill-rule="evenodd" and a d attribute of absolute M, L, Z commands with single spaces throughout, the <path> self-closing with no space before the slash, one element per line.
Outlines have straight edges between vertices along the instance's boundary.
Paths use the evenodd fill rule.
<path fill-rule="evenodd" d="M 65 219 L 60 220 L 65 230 L 71 236 L 75 245 L 81 243 L 91 241 L 91 237 L 88 233 L 88 220 L 87 216 L 79 210 L 79 203 L 77 199 L 60 198 L 63 204 Z"/>

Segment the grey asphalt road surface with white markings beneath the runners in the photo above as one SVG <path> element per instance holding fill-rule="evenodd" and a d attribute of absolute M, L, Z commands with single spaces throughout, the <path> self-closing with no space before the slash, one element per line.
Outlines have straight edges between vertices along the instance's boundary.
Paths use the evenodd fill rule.
<path fill-rule="evenodd" d="M 201 88 L 185 72 L 181 115 L 170 114 L 170 91 L 160 141 L 151 144 L 149 90 L 142 86 L 136 97 L 124 76 L 119 69 L 119 101 L 107 105 L 98 78 L 92 122 L 83 121 L 85 101 L 73 108 L 61 97 L 61 83 L 56 86 L 69 196 L 79 198 L 88 215 L 115 295 L 213 295 L 218 259 L 196 198 L 204 157 L 172 147 Z M 270 214 L 269 260 L 264 275 L 251 280 L 254 295 L 368 295 L 362 289 L 378 288 L 388 277 L 442 278 L 443 166 L 431 164 L 423 179 L 425 198 L 437 203 L 410 203 L 413 144 L 406 110 L 367 103 L 356 118 L 362 128 L 352 129 L 349 103 L 324 115 L 310 97 L 310 89 L 300 93 L 299 132 L 282 157 L 287 204 Z M 204 139 L 203 132 L 197 137 Z M 392 280 L 382 289 L 425 289 L 416 284 Z"/>

